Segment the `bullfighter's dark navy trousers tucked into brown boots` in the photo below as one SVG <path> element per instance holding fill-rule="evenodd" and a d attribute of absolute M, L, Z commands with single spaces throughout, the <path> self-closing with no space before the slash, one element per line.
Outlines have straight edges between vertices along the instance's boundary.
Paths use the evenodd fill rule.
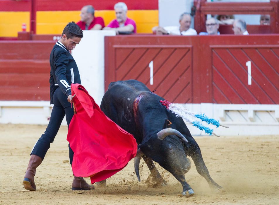
<path fill-rule="evenodd" d="M 42 159 L 44 159 L 44 156 L 46 155 L 47 150 L 50 147 L 50 143 L 54 141 L 54 138 L 57 135 L 62 120 L 64 119 L 64 116 L 66 115 L 68 128 L 71 119 L 73 117 L 73 108 L 71 108 L 71 103 L 68 102 L 67 95 L 65 95 L 65 93 L 63 93 L 58 86 L 57 89 L 54 91 L 53 104 L 54 106 L 52 108 L 47 129 L 44 132 L 44 134 L 42 134 L 40 139 L 37 141 L 30 154 L 30 155 L 35 154 L 41 157 Z M 69 157 L 70 157 L 70 164 L 72 164 L 73 151 L 70 148 L 70 144 L 69 144 Z"/>

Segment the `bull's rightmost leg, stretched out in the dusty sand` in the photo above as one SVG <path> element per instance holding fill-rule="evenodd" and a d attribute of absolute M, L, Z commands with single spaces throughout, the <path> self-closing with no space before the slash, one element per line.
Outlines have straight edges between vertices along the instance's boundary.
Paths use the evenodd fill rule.
<path fill-rule="evenodd" d="M 193 161 L 195 163 L 198 173 L 206 179 L 210 188 L 213 188 L 213 189 L 222 188 L 216 182 L 214 182 L 214 180 L 210 177 L 208 169 L 207 169 L 207 167 L 203 161 L 203 157 L 201 155 L 201 149 L 198 147 L 197 144 L 195 146 L 195 149 L 192 150 L 191 158 L 193 159 Z"/>

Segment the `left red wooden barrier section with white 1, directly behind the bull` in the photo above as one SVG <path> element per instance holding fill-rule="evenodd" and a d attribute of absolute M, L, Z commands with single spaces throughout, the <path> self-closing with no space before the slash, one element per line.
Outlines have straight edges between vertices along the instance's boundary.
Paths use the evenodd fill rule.
<path fill-rule="evenodd" d="M 106 88 L 112 81 L 136 79 L 169 101 L 193 102 L 192 39 L 146 35 L 108 39 L 106 45 L 109 46 L 105 48 Z"/>

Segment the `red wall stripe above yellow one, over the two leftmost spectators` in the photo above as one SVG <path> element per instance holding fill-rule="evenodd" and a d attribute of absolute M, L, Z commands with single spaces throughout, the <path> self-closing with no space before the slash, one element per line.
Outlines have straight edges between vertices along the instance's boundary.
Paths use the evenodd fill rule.
<path fill-rule="evenodd" d="M 103 1 L 88 1 L 88 0 L 37 0 L 37 11 L 77 11 L 83 6 L 91 4 L 96 10 L 113 10 L 114 4 L 119 0 L 103 0 Z M 158 0 L 126 0 L 125 4 L 128 10 L 156 10 L 158 9 Z"/>

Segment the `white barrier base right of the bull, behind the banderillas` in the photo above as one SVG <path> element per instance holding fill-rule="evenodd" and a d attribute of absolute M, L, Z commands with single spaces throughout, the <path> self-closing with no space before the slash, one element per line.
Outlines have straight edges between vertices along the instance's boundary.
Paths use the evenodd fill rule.
<path fill-rule="evenodd" d="M 196 113 L 205 113 L 208 117 L 219 120 L 229 128 L 208 125 L 220 136 L 229 135 L 278 135 L 279 105 L 254 104 L 185 104 Z M 206 135 L 204 131 L 186 123 L 192 135 Z M 203 125 L 207 125 L 203 122 Z"/>

